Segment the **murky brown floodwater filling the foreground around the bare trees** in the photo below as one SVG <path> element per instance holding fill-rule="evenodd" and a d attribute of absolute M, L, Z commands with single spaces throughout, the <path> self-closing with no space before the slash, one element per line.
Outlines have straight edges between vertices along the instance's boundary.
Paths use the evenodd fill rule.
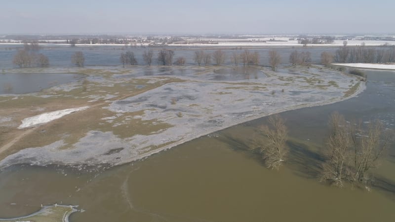
<path fill-rule="evenodd" d="M 367 89 L 358 97 L 281 114 L 290 155 L 279 171 L 248 151 L 257 126 L 267 121 L 261 118 L 110 169 L 11 166 L 0 171 L 0 218 L 62 203 L 85 210 L 72 222 L 393 221 L 394 145 L 374 171 L 371 192 L 316 179 L 331 112 L 380 118 L 395 129 L 395 72 L 364 72 Z"/>

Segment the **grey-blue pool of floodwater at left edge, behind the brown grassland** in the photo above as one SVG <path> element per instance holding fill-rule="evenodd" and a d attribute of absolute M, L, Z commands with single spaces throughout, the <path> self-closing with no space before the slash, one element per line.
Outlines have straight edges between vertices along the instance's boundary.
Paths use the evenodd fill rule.
<path fill-rule="evenodd" d="M 77 81 L 79 74 L 0 74 L 0 94 L 26 94 Z"/>

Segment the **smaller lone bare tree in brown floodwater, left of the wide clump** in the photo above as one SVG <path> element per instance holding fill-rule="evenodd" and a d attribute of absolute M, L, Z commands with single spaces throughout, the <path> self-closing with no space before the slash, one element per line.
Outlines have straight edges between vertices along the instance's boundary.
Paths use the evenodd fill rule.
<path fill-rule="evenodd" d="M 265 145 L 262 146 L 262 153 L 266 166 L 278 170 L 285 161 L 287 153 L 285 142 L 288 132 L 285 121 L 278 114 L 269 117 L 269 124 L 260 127 L 260 132 L 267 138 Z"/>

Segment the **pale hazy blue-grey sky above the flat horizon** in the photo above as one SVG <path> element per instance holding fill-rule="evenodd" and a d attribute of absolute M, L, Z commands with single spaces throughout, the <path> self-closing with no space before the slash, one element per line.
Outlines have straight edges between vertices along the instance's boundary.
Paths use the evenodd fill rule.
<path fill-rule="evenodd" d="M 395 33 L 395 0 L 9 0 L 0 34 Z"/>

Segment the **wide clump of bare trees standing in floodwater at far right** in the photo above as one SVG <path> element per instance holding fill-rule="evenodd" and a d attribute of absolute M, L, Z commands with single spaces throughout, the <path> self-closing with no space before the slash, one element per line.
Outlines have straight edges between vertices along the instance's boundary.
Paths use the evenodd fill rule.
<path fill-rule="evenodd" d="M 377 167 L 379 158 L 390 143 L 381 121 L 363 128 L 361 123 L 347 122 L 339 113 L 331 115 L 327 160 L 322 164 L 321 180 L 342 186 L 345 181 L 366 185 L 368 171 Z"/>

